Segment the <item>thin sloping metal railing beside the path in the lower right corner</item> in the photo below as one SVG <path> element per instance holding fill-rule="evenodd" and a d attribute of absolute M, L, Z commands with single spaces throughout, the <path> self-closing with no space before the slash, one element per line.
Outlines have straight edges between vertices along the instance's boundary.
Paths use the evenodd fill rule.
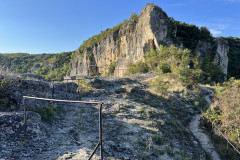
<path fill-rule="evenodd" d="M 227 136 L 225 136 L 225 135 L 222 133 L 221 129 L 220 129 L 211 119 L 208 118 L 208 116 L 206 115 L 205 112 L 203 112 L 202 110 L 201 110 L 201 112 L 202 112 L 203 117 L 206 117 L 206 119 L 207 119 L 208 121 L 210 121 L 210 124 L 211 124 L 211 140 L 213 139 L 213 127 L 216 128 L 216 129 L 218 130 L 218 132 L 220 133 L 220 135 L 222 136 L 222 138 L 226 140 L 226 142 L 227 142 L 227 147 L 226 147 L 226 148 L 227 148 L 227 151 L 226 151 L 226 155 L 225 155 L 226 160 L 229 159 L 229 158 L 228 158 L 228 157 L 229 157 L 229 145 L 232 146 L 232 148 L 233 148 L 233 149 L 239 154 L 239 156 L 240 156 L 240 151 L 237 149 L 237 147 L 235 147 L 235 146 L 229 141 L 229 139 L 227 138 Z"/>

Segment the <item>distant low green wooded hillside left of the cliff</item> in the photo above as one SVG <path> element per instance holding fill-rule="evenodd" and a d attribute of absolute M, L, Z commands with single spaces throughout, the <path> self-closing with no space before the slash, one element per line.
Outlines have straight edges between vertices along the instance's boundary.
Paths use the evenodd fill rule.
<path fill-rule="evenodd" d="M 59 54 L 0 54 L 1 70 L 34 73 L 46 79 L 63 80 L 69 70 L 72 52 Z"/>

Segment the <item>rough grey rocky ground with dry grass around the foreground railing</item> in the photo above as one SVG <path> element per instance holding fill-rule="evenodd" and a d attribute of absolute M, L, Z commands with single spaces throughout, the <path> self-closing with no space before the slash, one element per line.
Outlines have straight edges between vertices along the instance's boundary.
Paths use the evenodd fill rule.
<path fill-rule="evenodd" d="M 81 100 L 104 102 L 104 159 L 206 160 L 204 149 L 187 127 L 205 104 L 200 92 L 179 88 L 171 78 L 169 89 L 175 93 L 162 95 L 151 85 L 155 78 L 158 76 L 153 73 L 125 78 L 86 77 L 81 81 L 84 92 L 76 83 L 56 83 L 54 97 L 77 100 L 81 89 Z M 1 158 L 87 159 L 98 140 L 98 105 L 27 100 L 25 136 L 22 95 L 51 98 L 52 86 L 46 81 L 4 79 L 11 82 L 5 90 L 11 105 L 5 110 L 12 112 L 0 112 Z M 4 109 L 2 105 L 0 109 Z M 98 152 L 93 159 L 97 157 Z"/>

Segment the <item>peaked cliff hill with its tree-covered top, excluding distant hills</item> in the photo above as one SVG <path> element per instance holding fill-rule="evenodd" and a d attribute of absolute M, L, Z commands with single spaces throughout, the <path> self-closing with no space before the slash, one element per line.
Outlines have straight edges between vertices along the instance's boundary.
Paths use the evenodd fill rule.
<path fill-rule="evenodd" d="M 129 20 L 85 41 L 71 61 L 69 76 L 106 75 L 106 68 L 113 64 L 112 74 L 123 76 L 128 64 L 143 62 L 146 53 L 160 45 L 187 48 L 201 63 L 216 63 L 227 74 L 229 47 L 223 38 L 212 37 L 206 27 L 175 21 L 160 7 L 147 4 L 140 15 L 132 14 Z"/>

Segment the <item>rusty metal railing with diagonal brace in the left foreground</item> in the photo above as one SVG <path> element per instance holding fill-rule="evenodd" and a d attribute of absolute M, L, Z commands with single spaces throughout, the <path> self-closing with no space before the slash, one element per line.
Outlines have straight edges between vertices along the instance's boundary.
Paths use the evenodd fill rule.
<path fill-rule="evenodd" d="M 100 148 L 100 159 L 103 160 L 103 152 L 102 152 L 102 108 L 104 103 L 98 101 L 76 101 L 76 100 L 62 100 L 62 99 L 49 99 L 49 98 L 40 98 L 40 97 L 30 97 L 23 96 L 23 109 L 24 109 L 24 127 L 26 133 L 26 125 L 27 125 L 27 107 L 26 107 L 26 99 L 36 99 L 42 101 L 52 101 L 52 102 L 64 102 L 64 103 L 83 103 L 83 104 L 99 104 L 99 141 L 94 150 L 92 151 L 88 160 L 91 160 L 95 152 L 98 148 Z"/>

